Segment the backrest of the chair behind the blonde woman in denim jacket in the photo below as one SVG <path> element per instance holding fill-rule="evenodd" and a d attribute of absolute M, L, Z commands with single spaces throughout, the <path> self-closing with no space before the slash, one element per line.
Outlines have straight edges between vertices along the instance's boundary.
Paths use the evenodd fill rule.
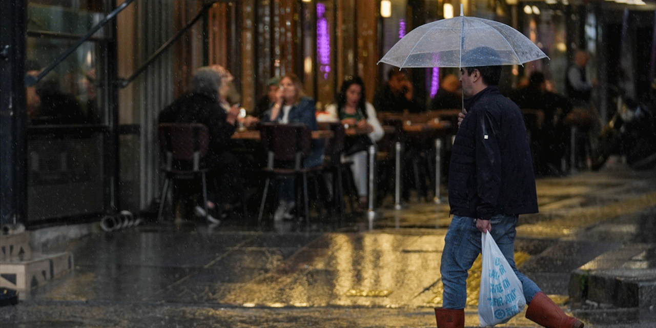
<path fill-rule="evenodd" d="M 268 165 L 273 161 L 295 161 L 301 167 L 302 159 L 312 150 L 312 133 L 302 123 L 279 124 L 264 123 L 260 125 L 260 141 L 268 154 Z"/>

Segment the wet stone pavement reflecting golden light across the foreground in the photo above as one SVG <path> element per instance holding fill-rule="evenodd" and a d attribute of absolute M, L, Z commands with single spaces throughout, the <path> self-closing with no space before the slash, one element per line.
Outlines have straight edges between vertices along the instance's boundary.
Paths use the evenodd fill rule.
<path fill-rule="evenodd" d="M 613 304 L 618 294 L 602 295 L 603 284 L 572 295 L 571 277 L 656 279 L 655 172 L 615 164 L 541 178 L 537 190 L 541 213 L 520 216 L 520 270 L 586 327 L 654 327 L 653 307 Z M 73 272 L 0 307 L 0 326 L 435 327 L 449 220 L 445 201 L 413 201 L 384 207 L 371 222 L 316 224 L 310 232 L 284 224 L 258 231 L 238 220 L 208 227 L 190 218 L 91 234 L 52 249 L 73 253 Z M 479 277 L 475 263 L 466 308 L 472 327 Z M 523 314 L 501 326 L 539 327 Z"/>

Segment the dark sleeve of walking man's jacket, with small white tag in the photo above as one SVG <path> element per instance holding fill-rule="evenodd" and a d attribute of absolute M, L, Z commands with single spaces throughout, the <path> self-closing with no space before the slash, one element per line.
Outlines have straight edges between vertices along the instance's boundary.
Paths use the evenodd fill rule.
<path fill-rule="evenodd" d="M 484 108 L 477 113 L 474 144 L 476 145 L 476 194 L 478 218 L 489 220 L 495 213 L 501 190 L 501 129 L 495 117 Z"/>

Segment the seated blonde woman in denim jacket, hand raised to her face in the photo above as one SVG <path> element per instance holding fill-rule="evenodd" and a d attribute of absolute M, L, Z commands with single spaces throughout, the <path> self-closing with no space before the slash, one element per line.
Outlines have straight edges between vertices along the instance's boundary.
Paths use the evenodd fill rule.
<path fill-rule="evenodd" d="M 276 102 L 264 113 L 264 122 L 304 123 L 311 131 L 317 129 L 316 106 L 314 99 L 305 96 L 300 79 L 294 74 L 287 74 L 280 79 Z M 323 161 L 323 142 L 313 140 L 312 152 L 303 161 L 304 167 L 316 167 Z M 274 220 L 292 218 L 291 210 L 295 207 L 295 190 L 293 179 L 283 180 L 279 187 L 279 203 L 274 213 Z"/>

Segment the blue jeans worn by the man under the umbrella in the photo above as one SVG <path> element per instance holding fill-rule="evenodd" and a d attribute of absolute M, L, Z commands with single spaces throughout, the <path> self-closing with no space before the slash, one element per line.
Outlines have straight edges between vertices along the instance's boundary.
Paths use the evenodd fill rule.
<path fill-rule="evenodd" d="M 512 270 L 522 282 L 526 304 L 540 288 L 519 272 L 515 266 L 514 249 L 517 234 L 517 215 L 496 215 L 492 217 L 490 234 L 497 242 L 501 253 L 506 257 Z M 449 224 L 447 236 L 444 238 L 444 249 L 440 273 L 444 291 L 442 293 L 442 308 L 462 309 L 467 300 L 467 270 L 481 253 L 481 232 L 476 228 L 476 219 L 467 216 L 454 215 Z"/>

